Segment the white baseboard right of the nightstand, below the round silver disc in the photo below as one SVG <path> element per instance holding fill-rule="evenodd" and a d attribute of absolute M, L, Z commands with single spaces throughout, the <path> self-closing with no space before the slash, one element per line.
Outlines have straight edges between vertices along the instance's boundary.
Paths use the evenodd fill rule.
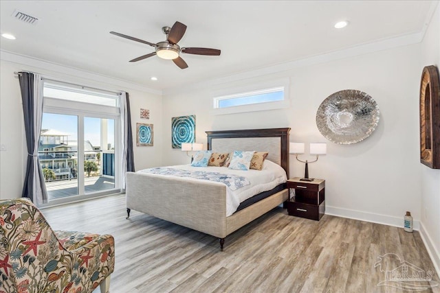
<path fill-rule="evenodd" d="M 342 209 L 340 207 L 329 206 L 325 207 L 325 213 L 326 215 L 336 215 L 342 218 L 350 218 L 354 220 L 404 228 L 404 215 L 401 217 L 393 217 L 391 215 L 381 215 L 380 213 L 366 213 L 364 211 L 356 211 L 354 209 Z M 419 220 L 412 220 L 412 228 L 417 231 L 420 230 Z"/>

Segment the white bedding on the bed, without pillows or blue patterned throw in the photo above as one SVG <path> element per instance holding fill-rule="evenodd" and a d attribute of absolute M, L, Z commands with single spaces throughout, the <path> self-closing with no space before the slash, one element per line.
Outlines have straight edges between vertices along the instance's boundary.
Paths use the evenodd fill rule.
<path fill-rule="evenodd" d="M 248 171 L 243 170 L 233 170 L 228 169 L 227 167 L 192 167 L 191 165 L 175 165 L 175 166 L 167 166 L 168 168 L 175 169 L 184 169 L 184 170 L 195 170 L 195 171 L 205 171 L 205 172 L 219 172 L 221 174 L 234 174 L 237 176 L 244 176 L 250 181 L 250 185 L 245 185 L 239 189 L 232 191 L 226 185 L 226 216 L 232 215 L 239 207 L 240 203 L 247 200 L 248 198 L 252 198 L 252 196 L 259 194 L 263 191 L 268 191 L 270 189 L 275 188 L 277 185 L 281 183 L 285 183 L 287 181 L 286 172 L 284 169 L 273 163 L 272 161 L 265 160 L 263 163 L 263 169 L 255 170 L 249 169 Z M 148 169 L 140 170 L 138 172 L 148 173 Z M 153 176 L 164 176 L 159 174 L 151 174 Z M 177 177 L 168 175 L 170 177 Z M 179 177 L 181 178 L 181 177 Z M 184 178 L 185 180 L 194 180 L 194 181 L 205 181 L 201 179 L 195 178 Z M 214 184 L 224 185 L 223 183 L 210 181 Z"/>

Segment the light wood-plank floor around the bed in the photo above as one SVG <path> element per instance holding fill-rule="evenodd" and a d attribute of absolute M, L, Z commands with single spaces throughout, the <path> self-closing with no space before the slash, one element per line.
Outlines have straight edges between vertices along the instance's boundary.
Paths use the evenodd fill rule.
<path fill-rule="evenodd" d="M 276 208 L 226 237 L 221 252 L 210 235 L 133 210 L 126 220 L 123 194 L 42 211 L 54 229 L 115 237 L 112 293 L 411 292 L 378 285 L 401 261 L 432 272 L 430 282 L 407 284 L 440 292 L 419 233 L 403 228 L 331 215 L 317 222 Z"/>

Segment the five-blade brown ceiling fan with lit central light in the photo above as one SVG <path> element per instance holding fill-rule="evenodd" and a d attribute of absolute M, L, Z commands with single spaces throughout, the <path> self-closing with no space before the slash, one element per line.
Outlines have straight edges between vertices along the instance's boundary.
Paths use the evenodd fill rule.
<path fill-rule="evenodd" d="M 156 44 L 147 42 L 146 40 L 140 40 L 139 38 L 133 38 L 133 36 L 126 36 L 125 34 L 120 34 L 118 32 L 110 32 L 110 34 L 114 34 L 115 36 L 120 36 L 122 38 L 128 38 L 129 40 L 144 43 L 155 48 L 155 51 L 153 53 L 134 58 L 133 60 L 130 60 L 130 62 L 137 62 L 157 55 L 159 56 L 159 58 L 162 59 L 173 60 L 175 65 L 177 65 L 181 69 L 186 69 L 188 68 L 188 65 L 186 64 L 185 60 L 183 60 L 179 56 L 180 53 L 208 56 L 220 55 L 221 51 L 219 49 L 180 47 L 179 45 L 177 45 L 177 43 L 179 43 L 179 40 L 184 36 L 185 31 L 186 25 L 184 25 L 183 23 L 179 23 L 179 21 L 176 21 L 173 27 L 162 27 L 162 32 L 166 34 L 166 40 Z"/>

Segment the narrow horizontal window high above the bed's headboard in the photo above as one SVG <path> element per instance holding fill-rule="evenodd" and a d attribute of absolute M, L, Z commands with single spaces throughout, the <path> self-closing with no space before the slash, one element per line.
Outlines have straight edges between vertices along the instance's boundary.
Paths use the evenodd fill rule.
<path fill-rule="evenodd" d="M 245 113 L 289 108 L 289 80 L 256 82 L 234 89 L 217 91 L 213 98 L 213 115 Z"/>

